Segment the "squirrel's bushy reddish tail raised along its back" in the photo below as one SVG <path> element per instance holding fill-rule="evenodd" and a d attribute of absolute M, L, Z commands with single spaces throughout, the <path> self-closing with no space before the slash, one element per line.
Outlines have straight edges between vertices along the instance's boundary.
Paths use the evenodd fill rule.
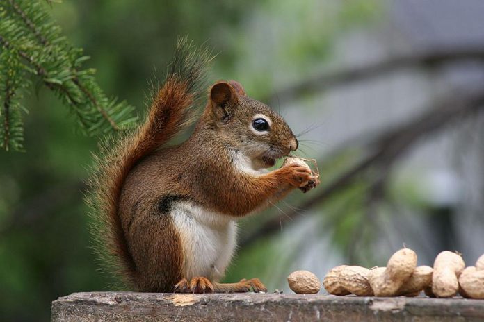
<path fill-rule="evenodd" d="M 95 157 L 86 200 L 92 217 L 95 251 L 104 269 L 133 286 L 136 278 L 127 240 L 118 214 L 120 192 L 134 164 L 165 144 L 191 119 L 191 110 L 206 89 L 211 56 L 195 49 L 186 38 L 178 41 L 166 80 L 152 94 L 145 122 L 122 137 L 108 139 Z"/>

